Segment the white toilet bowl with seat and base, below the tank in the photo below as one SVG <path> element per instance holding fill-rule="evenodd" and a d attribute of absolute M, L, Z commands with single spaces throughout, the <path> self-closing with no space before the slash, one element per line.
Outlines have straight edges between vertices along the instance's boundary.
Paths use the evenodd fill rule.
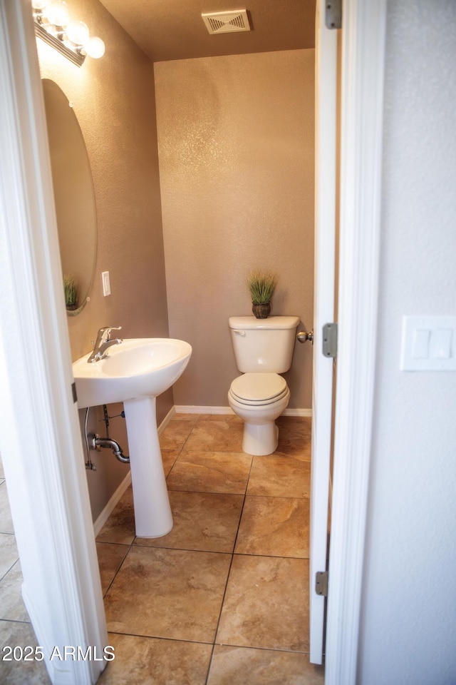
<path fill-rule="evenodd" d="M 229 388 L 228 403 L 244 421 L 242 450 L 262 457 L 275 452 L 279 441 L 276 418 L 288 406 L 290 391 L 277 373 L 244 373 Z"/>

